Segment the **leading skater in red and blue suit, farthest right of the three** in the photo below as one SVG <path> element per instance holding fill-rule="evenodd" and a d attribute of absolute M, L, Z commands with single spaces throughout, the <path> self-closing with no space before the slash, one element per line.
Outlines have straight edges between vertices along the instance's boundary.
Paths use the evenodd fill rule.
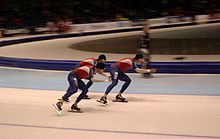
<path fill-rule="evenodd" d="M 125 82 L 116 96 L 116 101 L 123 102 L 127 101 L 126 98 L 122 97 L 121 94 L 128 88 L 131 83 L 131 79 L 125 74 L 126 70 L 133 68 L 138 73 L 156 72 L 156 69 L 140 69 L 136 64 L 141 64 L 143 59 L 142 54 L 136 54 L 134 58 L 124 58 L 117 63 L 111 65 L 111 80 L 112 83 L 107 87 L 105 94 L 100 98 L 99 102 L 104 104 L 107 103 L 108 93 L 118 84 L 118 80 Z"/>

